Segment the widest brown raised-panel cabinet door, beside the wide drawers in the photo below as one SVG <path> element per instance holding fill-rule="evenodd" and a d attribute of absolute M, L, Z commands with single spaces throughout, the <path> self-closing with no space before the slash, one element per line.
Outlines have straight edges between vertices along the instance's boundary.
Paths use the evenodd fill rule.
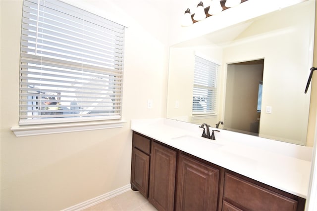
<path fill-rule="evenodd" d="M 216 211 L 219 169 L 180 154 L 177 170 L 176 210 Z"/>

